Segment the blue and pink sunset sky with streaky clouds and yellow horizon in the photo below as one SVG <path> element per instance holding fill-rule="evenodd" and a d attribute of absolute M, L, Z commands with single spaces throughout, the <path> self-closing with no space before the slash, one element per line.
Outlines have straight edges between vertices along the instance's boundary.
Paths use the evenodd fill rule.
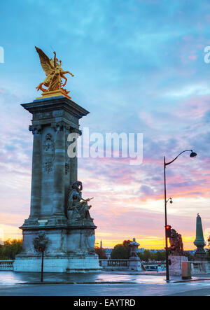
<path fill-rule="evenodd" d="M 80 129 L 143 133 L 144 159 L 80 158 L 83 197 L 94 197 L 97 243 L 110 248 L 136 238 L 164 248 L 163 157 L 167 161 L 168 223 L 193 249 L 196 216 L 210 232 L 210 45 L 208 0 L 1 1 L 0 231 L 21 238 L 29 216 L 31 115 L 20 104 L 40 96 L 44 78 L 34 46 L 56 50 L 72 100 L 90 111 Z"/>

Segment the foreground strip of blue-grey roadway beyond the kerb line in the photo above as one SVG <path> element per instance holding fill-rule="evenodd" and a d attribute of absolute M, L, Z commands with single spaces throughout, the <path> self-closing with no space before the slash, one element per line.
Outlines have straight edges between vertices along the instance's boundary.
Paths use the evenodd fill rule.
<path fill-rule="evenodd" d="M 37 284 L 0 286 L 0 296 L 208 296 L 210 281 L 142 284 Z"/>

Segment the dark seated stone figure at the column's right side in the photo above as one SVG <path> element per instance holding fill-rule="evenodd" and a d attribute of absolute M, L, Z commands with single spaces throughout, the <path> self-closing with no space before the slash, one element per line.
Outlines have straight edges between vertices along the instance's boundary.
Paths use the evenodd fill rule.
<path fill-rule="evenodd" d="M 88 206 L 92 198 L 83 199 L 82 197 L 83 184 L 80 181 L 73 182 L 69 192 L 67 216 L 69 220 L 93 220 L 90 217 L 89 210 L 92 206 Z"/>

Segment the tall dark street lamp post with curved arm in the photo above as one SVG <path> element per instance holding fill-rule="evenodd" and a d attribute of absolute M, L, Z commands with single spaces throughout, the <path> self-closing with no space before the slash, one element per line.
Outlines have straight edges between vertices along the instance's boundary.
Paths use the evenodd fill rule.
<path fill-rule="evenodd" d="M 193 152 L 193 150 L 183 150 L 178 156 L 174 158 L 171 162 L 166 162 L 164 157 L 164 185 L 165 185 L 165 258 L 166 258 L 166 280 L 169 281 L 169 252 L 168 252 L 168 230 L 171 228 L 171 226 L 167 225 L 167 202 L 172 204 L 172 198 L 167 199 L 167 192 L 166 192 L 166 167 L 169 164 L 172 164 L 177 158 L 184 152 L 191 152 L 190 157 L 196 157 L 197 154 Z"/>

